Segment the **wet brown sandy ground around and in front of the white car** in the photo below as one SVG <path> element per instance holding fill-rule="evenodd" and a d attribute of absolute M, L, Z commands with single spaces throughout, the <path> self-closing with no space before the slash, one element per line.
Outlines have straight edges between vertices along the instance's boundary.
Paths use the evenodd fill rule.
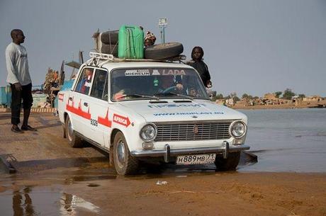
<path fill-rule="evenodd" d="M 23 210 L 74 215 L 71 196 L 62 195 L 76 195 L 98 208 L 79 208 L 76 215 L 326 215 L 326 174 L 215 172 L 173 165 L 116 176 L 98 150 L 70 148 L 56 117 L 36 114 L 30 124 L 38 132 L 16 135 L 10 132 L 9 115 L 0 114 L 0 154 L 13 155 L 18 169 L 17 174 L 0 174 L 5 215 L 11 207 L 16 215 Z M 56 195 L 57 201 L 46 203 Z M 44 196 L 43 203 L 36 196 Z M 57 207 L 62 200 L 67 214 Z"/>

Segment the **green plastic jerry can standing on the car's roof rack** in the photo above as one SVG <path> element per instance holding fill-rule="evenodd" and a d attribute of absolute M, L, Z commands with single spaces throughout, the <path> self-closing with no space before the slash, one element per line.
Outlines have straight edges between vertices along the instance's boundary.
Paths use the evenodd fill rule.
<path fill-rule="evenodd" d="M 138 26 L 122 25 L 119 29 L 118 57 L 144 58 L 144 32 Z"/>

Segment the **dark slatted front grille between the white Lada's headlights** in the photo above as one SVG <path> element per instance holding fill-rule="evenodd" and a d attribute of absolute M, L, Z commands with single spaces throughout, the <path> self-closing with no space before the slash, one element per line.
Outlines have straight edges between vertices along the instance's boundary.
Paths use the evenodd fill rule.
<path fill-rule="evenodd" d="M 193 141 L 229 139 L 232 121 L 198 123 L 155 123 L 157 137 L 154 141 Z M 198 130 L 197 130 L 198 128 Z"/>

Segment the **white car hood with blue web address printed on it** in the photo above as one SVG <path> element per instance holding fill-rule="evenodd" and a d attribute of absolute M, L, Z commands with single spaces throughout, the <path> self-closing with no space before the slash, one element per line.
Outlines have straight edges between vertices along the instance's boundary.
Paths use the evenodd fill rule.
<path fill-rule="evenodd" d="M 207 100 L 124 101 L 120 106 L 142 115 L 147 122 L 245 120 L 243 113 Z"/>

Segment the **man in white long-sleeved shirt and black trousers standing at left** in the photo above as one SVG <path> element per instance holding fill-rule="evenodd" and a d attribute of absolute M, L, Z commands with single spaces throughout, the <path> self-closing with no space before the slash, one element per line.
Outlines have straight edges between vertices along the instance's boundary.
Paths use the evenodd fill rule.
<path fill-rule="evenodd" d="M 28 59 L 25 47 L 25 35 L 20 29 L 11 30 L 11 42 L 6 47 L 6 67 L 8 71 L 7 82 L 11 86 L 11 131 L 23 133 L 23 130 L 36 131 L 28 125 L 30 108 L 33 105 L 32 81 L 28 72 Z M 21 114 L 21 100 L 23 99 L 23 125 L 18 127 Z"/>

